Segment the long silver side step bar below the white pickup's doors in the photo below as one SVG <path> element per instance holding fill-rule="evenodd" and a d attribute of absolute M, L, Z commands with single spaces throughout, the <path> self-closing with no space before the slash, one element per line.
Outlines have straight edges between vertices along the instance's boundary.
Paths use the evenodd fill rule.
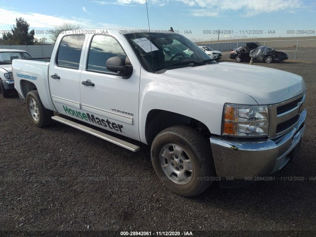
<path fill-rule="evenodd" d="M 72 127 L 75 127 L 81 131 L 84 131 L 84 132 L 87 132 L 87 133 L 90 133 L 96 137 L 99 137 L 99 138 L 102 138 L 108 142 L 112 142 L 120 147 L 123 147 L 123 148 L 126 148 L 127 150 L 130 150 L 132 152 L 138 152 L 140 150 L 140 147 L 134 145 L 134 144 L 131 144 L 129 142 L 125 142 L 121 139 L 118 139 L 116 137 L 113 137 L 113 136 L 110 136 L 106 133 L 103 133 L 103 132 L 100 132 L 98 130 L 95 130 L 93 128 L 90 128 L 90 127 L 87 127 L 87 126 L 84 126 L 82 124 L 79 124 L 77 122 L 74 122 L 74 121 L 71 121 L 71 120 L 68 120 L 66 118 L 61 118 L 59 116 L 53 116 L 51 117 L 52 119 L 56 120 L 56 121 L 59 121 L 59 122 L 62 122 L 62 123 L 65 123 L 69 126 L 72 126 Z"/>

